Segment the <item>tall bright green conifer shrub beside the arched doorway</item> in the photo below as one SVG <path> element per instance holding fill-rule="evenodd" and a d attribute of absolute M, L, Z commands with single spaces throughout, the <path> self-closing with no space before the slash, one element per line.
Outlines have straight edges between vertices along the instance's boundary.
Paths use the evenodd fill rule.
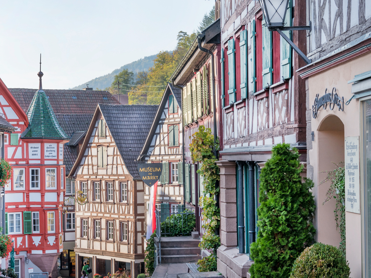
<path fill-rule="evenodd" d="M 259 232 L 251 244 L 252 278 L 288 278 L 293 263 L 314 241 L 313 182 L 302 182 L 299 152 L 278 144 L 260 174 Z"/>

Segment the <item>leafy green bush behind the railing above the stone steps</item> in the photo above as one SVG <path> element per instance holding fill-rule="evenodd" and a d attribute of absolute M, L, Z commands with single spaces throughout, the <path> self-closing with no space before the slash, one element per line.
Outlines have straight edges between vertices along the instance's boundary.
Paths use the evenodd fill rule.
<path fill-rule="evenodd" d="M 161 231 L 170 233 L 164 236 L 191 235 L 195 227 L 196 216 L 189 209 L 185 209 L 182 214 L 172 214 L 161 223 Z"/>

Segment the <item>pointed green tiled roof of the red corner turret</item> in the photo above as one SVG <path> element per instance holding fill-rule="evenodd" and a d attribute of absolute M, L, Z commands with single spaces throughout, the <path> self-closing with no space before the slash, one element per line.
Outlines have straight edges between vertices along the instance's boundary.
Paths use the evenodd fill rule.
<path fill-rule="evenodd" d="M 37 90 L 26 114 L 29 125 L 22 133 L 22 138 L 69 139 L 60 127 L 43 90 Z"/>

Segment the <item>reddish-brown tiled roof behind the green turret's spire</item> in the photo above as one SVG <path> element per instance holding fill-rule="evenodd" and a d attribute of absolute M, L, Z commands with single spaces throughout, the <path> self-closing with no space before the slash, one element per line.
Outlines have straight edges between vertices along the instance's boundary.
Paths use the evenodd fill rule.
<path fill-rule="evenodd" d="M 24 111 L 27 111 L 37 89 L 9 88 Z M 110 93 L 95 90 L 44 90 L 56 114 L 93 114 L 98 103 L 120 104 Z"/>

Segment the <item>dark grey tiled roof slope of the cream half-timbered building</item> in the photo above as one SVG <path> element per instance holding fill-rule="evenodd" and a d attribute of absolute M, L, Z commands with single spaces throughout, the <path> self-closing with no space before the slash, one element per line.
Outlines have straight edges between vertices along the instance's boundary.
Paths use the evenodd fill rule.
<path fill-rule="evenodd" d="M 99 104 L 99 107 L 125 166 L 133 178 L 138 179 L 137 158 L 150 131 L 158 105 Z"/>

